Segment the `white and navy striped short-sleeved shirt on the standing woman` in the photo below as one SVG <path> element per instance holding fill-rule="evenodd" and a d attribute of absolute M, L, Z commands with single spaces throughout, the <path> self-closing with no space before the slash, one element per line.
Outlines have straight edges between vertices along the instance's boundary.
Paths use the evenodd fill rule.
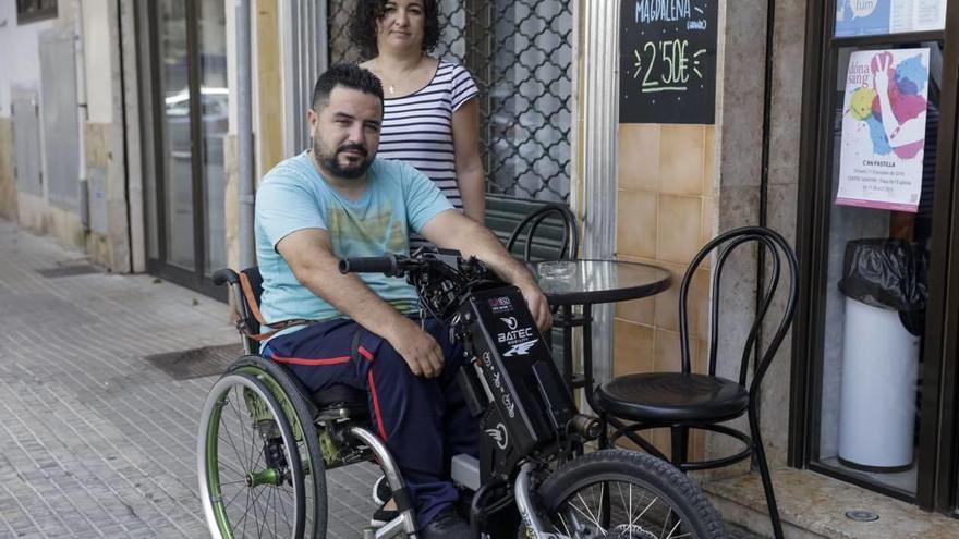
<path fill-rule="evenodd" d="M 384 99 L 377 157 L 412 164 L 462 211 L 457 187 L 453 112 L 480 90 L 462 65 L 439 61 L 433 79 L 409 96 Z"/>

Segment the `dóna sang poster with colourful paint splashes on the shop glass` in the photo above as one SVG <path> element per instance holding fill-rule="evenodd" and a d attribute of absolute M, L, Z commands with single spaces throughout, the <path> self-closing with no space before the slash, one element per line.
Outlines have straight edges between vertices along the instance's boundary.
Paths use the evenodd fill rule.
<path fill-rule="evenodd" d="M 925 48 L 849 58 L 836 204 L 916 212 L 928 59 Z"/>

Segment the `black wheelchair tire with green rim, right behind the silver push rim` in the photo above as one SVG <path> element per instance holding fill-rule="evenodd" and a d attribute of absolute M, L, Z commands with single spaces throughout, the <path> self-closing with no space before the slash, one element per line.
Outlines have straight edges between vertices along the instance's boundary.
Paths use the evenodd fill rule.
<path fill-rule="evenodd" d="M 315 407 L 307 401 L 306 388 L 286 367 L 259 355 L 247 355 L 233 362 L 228 369 L 228 372 L 232 371 L 256 376 L 270 388 L 284 409 L 298 441 L 304 471 L 306 522 L 301 537 L 326 538 L 328 517 L 326 466 L 316 426 L 313 422 Z"/>

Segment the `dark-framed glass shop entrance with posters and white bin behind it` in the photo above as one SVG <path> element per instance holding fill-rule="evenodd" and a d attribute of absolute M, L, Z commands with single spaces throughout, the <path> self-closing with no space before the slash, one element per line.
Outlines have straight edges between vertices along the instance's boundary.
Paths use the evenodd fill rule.
<path fill-rule="evenodd" d="M 806 396 L 790 460 L 954 512 L 959 7 L 946 4 L 810 2 L 809 35 L 822 38 L 806 65 L 822 69 L 804 87 Z"/>

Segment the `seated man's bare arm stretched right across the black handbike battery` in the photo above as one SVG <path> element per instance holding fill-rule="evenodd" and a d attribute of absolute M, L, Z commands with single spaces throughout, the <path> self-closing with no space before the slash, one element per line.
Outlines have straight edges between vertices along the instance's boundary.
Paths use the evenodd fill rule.
<path fill-rule="evenodd" d="M 459 211 L 447 210 L 430 219 L 421 233 L 440 247 L 457 249 L 464 257 L 475 256 L 483 260 L 503 281 L 520 289 L 541 331 L 553 326 L 549 304 L 536 280 L 506 250 L 489 229 Z"/>

